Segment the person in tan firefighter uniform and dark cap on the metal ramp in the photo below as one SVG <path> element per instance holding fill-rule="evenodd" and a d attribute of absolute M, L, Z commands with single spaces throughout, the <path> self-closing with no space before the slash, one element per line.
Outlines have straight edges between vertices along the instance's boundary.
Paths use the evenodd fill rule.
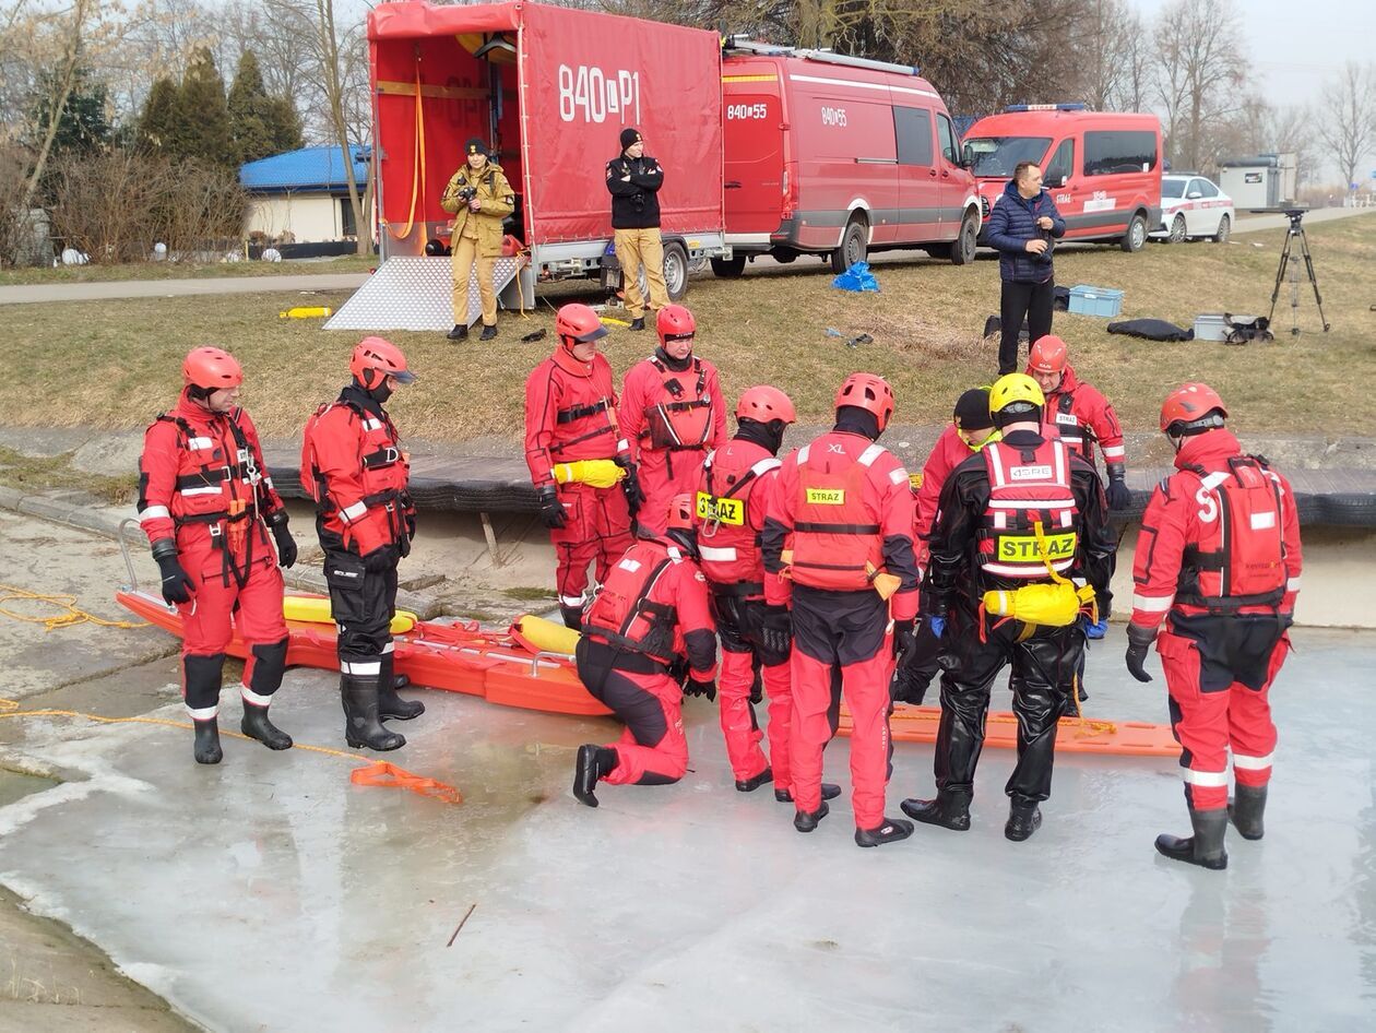
<path fill-rule="evenodd" d="M 454 216 L 450 246 L 454 252 L 454 329 L 449 340 L 468 337 L 468 281 L 477 263 L 477 294 L 483 303 L 483 334 L 490 341 L 497 336 L 497 290 L 493 271 L 502 253 L 502 219 L 516 210 L 516 195 L 502 173 L 502 166 L 491 160 L 476 136 L 464 144 L 466 161 L 444 187 L 440 208 Z"/>

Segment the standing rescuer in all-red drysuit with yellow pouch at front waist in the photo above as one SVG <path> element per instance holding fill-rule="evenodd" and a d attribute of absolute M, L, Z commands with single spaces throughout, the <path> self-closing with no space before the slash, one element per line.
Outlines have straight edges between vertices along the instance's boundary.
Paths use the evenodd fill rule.
<path fill-rule="evenodd" d="M 641 494 L 630 448 L 616 426 L 611 366 L 597 354 L 607 327 L 588 305 L 571 304 L 559 309 L 555 333 L 555 354 L 526 378 L 526 465 L 555 545 L 559 609 L 577 630 L 588 564 L 596 561 L 599 582 L 607 576 L 630 545 L 632 509 Z M 625 469 L 625 479 L 619 487 L 557 483 L 555 466 L 578 459 L 612 459 Z"/>

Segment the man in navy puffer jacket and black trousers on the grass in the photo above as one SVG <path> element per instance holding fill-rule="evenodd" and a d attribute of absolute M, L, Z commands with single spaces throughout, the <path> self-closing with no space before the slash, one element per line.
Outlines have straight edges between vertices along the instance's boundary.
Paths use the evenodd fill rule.
<path fill-rule="evenodd" d="M 1051 298 L 1055 279 L 1051 274 L 1051 239 L 1065 237 L 1065 220 L 1055 210 L 1055 201 L 1042 190 L 1042 168 L 1031 161 L 1018 162 L 1003 195 L 989 212 L 985 241 L 999 249 L 999 275 L 1003 294 L 999 318 L 999 376 L 1018 370 L 1018 331 L 1026 319 L 1029 340 L 1051 333 Z"/>

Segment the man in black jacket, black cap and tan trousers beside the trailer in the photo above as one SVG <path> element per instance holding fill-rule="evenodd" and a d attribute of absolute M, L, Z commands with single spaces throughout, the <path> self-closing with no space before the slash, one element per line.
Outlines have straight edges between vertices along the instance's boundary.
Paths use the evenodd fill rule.
<path fill-rule="evenodd" d="M 607 190 L 611 193 L 611 227 L 616 231 L 616 260 L 630 329 L 645 329 L 645 298 L 640 293 L 640 267 L 649 282 L 649 311 L 669 304 L 665 287 L 665 245 L 659 239 L 659 187 L 665 171 L 645 155 L 638 129 L 621 131 L 621 154 L 607 162 Z"/>

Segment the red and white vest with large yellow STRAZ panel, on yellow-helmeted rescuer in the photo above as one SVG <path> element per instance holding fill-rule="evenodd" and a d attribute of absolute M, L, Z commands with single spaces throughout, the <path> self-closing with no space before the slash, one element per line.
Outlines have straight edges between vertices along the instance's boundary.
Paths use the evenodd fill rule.
<path fill-rule="evenodd" d="M 976 534 L 980 569 L 1013 580 L 1050 580 L 1047 563 L 1057 574 L 1071 569 L 1080 521 L 1066 444 L 1043 439 L 1029 450 L 993 442 L 981 455 L 989 503 Z"/>

